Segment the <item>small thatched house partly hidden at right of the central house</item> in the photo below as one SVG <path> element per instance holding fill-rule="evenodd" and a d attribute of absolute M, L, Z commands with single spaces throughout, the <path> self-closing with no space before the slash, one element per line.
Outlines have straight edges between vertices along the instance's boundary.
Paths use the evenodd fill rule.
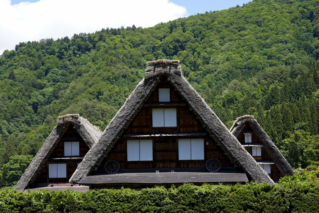
<path fill-rule="evenodd" d="M 230 131 L 273 180 L 295 173 L 254 116 L 236 118 Z"/>

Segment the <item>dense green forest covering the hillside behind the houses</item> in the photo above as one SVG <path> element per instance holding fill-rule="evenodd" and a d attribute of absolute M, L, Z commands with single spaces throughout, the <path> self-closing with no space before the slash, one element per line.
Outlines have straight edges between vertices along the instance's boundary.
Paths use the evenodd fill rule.
<path fill-rule="evenodd" d="M 162 58 L 181 61 L 226 126 L 255 115 L 294 168 L 316 168 L 318 14 L 319 0 L 254 0 L 150 28 L 105 28 L 5 50 L 0 186 L 19 179 L 59 115 L 78 113 L 104 130 L 146 62 Z"/>

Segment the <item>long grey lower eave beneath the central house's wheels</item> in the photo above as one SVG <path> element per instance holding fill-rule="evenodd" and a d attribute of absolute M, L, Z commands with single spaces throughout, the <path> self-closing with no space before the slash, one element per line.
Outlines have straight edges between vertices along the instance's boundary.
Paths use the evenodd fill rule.
<path fill-rule="evenodd" d="M 80 184 L 165 184 L 165 183 L 248 182 L 245 173 L 152 172 L 86 176 Z"/>

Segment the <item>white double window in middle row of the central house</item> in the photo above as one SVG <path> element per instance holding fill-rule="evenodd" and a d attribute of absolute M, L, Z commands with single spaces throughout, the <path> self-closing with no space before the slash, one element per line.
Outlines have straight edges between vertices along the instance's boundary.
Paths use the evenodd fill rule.
<path fill-rule="evenodd" d="M 153 127 L 177 126 L 176 108 L 152 109 Z"/>

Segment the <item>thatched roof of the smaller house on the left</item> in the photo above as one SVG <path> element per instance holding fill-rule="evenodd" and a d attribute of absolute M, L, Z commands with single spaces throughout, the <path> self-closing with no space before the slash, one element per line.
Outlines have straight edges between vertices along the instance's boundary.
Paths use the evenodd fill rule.
<path fill-rule="evenodd" d="M 41 173 L 43 167 L 48 162 L 48 156 L 51 154 L 50 151 L 55 148 L 55 145 L 59 142 L 59 139 L 63 136 L 70 124 L 75 127 L 89 148 L 93 146 L 101 135 L 100 130 L 96 126 L 93 126 L 89 121 L 80 117 L 78 114 L 60 116 L 57 123 L 15 186 L 16 190 L 25 190 Z"/>

